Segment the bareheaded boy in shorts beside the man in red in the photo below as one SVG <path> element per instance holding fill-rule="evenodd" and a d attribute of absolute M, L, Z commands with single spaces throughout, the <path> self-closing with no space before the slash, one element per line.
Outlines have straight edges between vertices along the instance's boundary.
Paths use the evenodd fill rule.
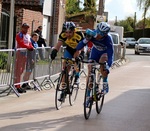
<path fill-rule="evenodd" d="M 31 35 L 31 42 L 32 42 L 32 46 L 34 48 L 38 47 L 37 41 L 39 39 L 39 35 L 37 33 L 33 33 Z M 26 63 L 26 72 L 24 74 L 23 80 L 24 81 L 28 81 L 30 78 L 30 75 L 32 73 L 32 70 L 34 68 L 34 61 L 37 58 L 38 52 L 37 50 L 33 50 L 33 51 L 27 51 L 27 63 Z M 28 83 L 24 83 L 22 85 L 22 88 L 26 89 L 26 90 L 30 90 L 31 87 Z"/>

